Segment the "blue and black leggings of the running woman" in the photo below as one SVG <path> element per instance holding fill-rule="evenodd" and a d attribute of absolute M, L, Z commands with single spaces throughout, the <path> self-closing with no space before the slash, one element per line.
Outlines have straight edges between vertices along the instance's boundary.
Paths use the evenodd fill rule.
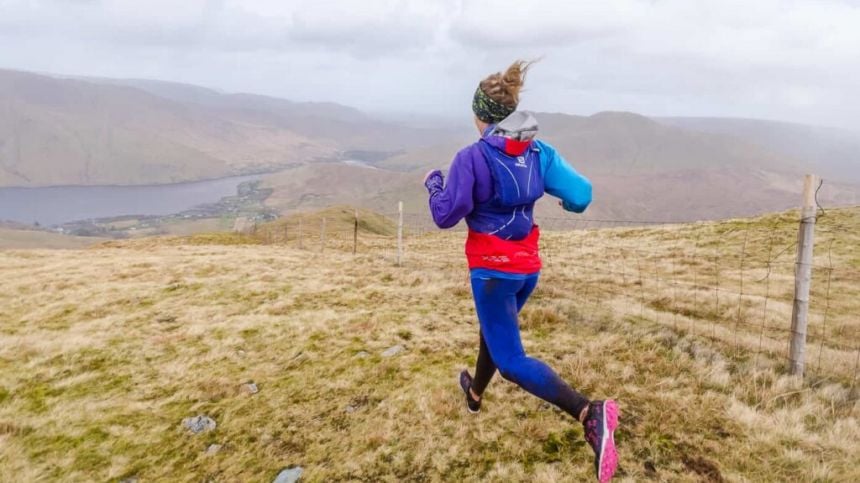
<path fill-rule="evenodd" d="M 523 349 L 517 315 L 537 281 L 537 275 L 525 280 L 472 277 L 472 295 L 481 324 L 481 348 L 472 390 L 482 394 L 498 369 L 505 379 L 579 418 L 588 399 L 543 361 L 528 357 Z"/>

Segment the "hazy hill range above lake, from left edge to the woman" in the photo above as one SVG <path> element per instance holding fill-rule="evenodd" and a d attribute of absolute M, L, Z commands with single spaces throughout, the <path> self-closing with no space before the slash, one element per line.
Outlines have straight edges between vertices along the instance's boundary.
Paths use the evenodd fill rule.
<path fill-rule="evenodd" d="M 333 103 L 0 70 L 0 186 L 192 181 L 385 157 L 434 134 Z"/>

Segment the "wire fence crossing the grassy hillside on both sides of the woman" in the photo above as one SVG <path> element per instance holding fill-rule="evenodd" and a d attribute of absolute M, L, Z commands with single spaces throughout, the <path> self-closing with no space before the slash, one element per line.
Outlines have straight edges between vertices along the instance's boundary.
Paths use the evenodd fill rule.
<path fill-rule="evenodd" d="M 264 243 L 351 251 L 406 268 L 465 268 L 463 234 L 440 233 L 428 214 L 369 218 L 288 222 L 256 234 Z M 660 324 L 719 344 L 738 366 L 785 371 L 798 220 L 797 213 L 696 223 L 539 218 L 541 287 L 572 298 L 583 317 Z M 852 389 L 860 375 L 858 226 L 858 210 L 819 219 L 806 329 L 807 375 Z"/>

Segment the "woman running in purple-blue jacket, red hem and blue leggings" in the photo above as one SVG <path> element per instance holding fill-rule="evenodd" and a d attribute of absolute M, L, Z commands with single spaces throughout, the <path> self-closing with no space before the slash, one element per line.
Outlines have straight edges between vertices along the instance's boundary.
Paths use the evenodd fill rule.
<path fill-rule="evenodd" d="M 538 124 L 517 111 L 529 62 L 514 62 L 504 73 L 482 80 L 472 100 L 481 138 L 457 153 L 447 181 L 438 170 L 427 173 L 430 212 L 439 228 L 466 219 L 466 258 L 480 322 L 475 376 L 460 373 L 460 387 L 472 413 L 499 370 L 502 377 L 580 421 L 595 453 L 597 479 L 607 482 L 618 465 L 613 432 L 618 405 L 589 401 L 546 363 L 526 355 L 517 315 L 537 285 L 540 231 L 534 204 L 549 193 L 561 206 L 582 213 L 591 203 L 591 183 L 549 144 L 535 139 Z"/>

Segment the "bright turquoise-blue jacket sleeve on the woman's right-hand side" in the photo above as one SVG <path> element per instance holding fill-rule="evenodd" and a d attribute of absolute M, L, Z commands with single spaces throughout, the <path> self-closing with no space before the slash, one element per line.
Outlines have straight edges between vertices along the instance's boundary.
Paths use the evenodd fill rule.
<path fill-rule="evenodd" d="M 574 213 L 582 213 L 591 204 L 591 181 L 576 172 L 549 144 L 538 143 L 541 150 L 544 190 L 559 198 L 561 206 Z"/>

